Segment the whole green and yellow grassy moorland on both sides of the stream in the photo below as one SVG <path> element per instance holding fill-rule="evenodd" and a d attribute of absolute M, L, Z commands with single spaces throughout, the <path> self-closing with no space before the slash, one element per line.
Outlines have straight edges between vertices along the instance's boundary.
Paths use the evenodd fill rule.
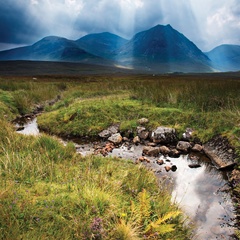
<path fill-rule="evenodd" d="M 145 168 L 81 157 L 54 137 L 22 136 L 9 121 L 45 103 L 38 123 L 56 135 L 96 136 L 120 123 L 216 134 L 240 152 L 240 76 L 83 75 L 0 78 L 1 239 L 192 239 L 170 195 Z M 60 96 L 54 105 L 47 100 Z M 117 170 L 116 170 L 117 169 Z"/>

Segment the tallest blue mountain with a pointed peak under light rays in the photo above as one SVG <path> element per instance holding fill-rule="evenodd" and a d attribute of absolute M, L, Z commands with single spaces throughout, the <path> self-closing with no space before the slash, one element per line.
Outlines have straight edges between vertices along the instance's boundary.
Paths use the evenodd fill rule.
<path fill-rule="evenodd" d="M 157 25 L 137 33 L 116 55 L 117 61 L 135 68 L 145 66 L 146 69 L 170 72 L 212 71 L 208 57 L 170 25 Z"/>

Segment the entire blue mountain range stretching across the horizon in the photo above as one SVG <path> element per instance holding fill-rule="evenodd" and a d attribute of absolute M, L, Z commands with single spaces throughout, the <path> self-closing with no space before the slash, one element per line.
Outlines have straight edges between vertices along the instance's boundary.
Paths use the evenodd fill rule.
<path fill-rule="evenodd" d="M 0 51 L 0 60 L 81 62 L 154 72 L 239 71 L 240 46 L 203 53 L 171 25 L 157 25 L 127 40 L 104 32 L 76 41 L 49 36 L 31 46 Z"/>

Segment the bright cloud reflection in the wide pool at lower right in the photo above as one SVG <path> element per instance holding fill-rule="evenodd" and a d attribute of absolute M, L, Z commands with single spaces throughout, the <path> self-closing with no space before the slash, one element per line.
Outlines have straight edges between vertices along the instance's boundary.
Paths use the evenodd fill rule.
<path fill-rule="evenodd" d="M 178 166 L 171 174 L 172 200 L 196 223 L 196 239 L 231 239 L 234 208 L 229 194 L 221 191 L 227 185 L 225 175 L 206 162 L 200 168 L 189 168 L 187 156 L 171 162 Z"/>

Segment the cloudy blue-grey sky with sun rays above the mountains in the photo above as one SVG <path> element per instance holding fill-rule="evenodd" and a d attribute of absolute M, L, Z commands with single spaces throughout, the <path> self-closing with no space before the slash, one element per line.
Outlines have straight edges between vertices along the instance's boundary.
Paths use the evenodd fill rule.
<path fill-rule="evenodd" d="M 157 24 L 171 24 L 202 51 L 240 45 L 240 0 L 0 0 L 0 50 L 46 36 L 131 39 Z"/>

